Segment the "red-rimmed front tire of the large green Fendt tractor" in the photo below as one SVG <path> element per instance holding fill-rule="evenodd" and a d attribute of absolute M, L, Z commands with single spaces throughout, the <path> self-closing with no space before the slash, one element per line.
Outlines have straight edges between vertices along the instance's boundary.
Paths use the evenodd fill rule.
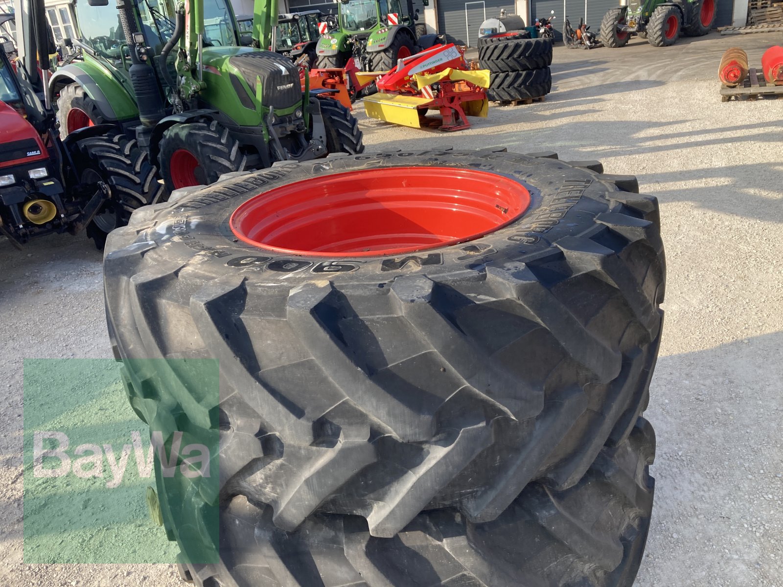
<path fill-rule="evenodd" d="M 167 128 L 157 160 L 169 191 L 215 183 L 224 173 L 243 171 L 247 162 L 239 141 L 218 121 Z"/>

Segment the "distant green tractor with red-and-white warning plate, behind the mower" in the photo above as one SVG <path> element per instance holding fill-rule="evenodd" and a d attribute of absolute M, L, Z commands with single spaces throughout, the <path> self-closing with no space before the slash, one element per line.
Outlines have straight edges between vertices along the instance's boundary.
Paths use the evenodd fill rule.
<path fill-rule="evenodd" d="M 386 71 L 440 42 L 416 23 L 419 11 L 410 0 L 340 0 L 337 6 L 332 30 L 318 41 L 316 67 L 345 67 L 353 56 L 359 69 Z"/>

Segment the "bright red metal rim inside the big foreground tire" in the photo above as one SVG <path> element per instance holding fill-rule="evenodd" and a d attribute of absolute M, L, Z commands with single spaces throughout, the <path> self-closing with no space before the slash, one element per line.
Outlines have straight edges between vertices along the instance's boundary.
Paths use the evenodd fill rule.
<path fill-rule="evenodd" d="M 245 243 L 280 253 L 375 257 L 477 239 L 529 205 L 528 190 L 503 175 L 385 167 L 270 189 L 236 208 L 229 225 Z"/>

